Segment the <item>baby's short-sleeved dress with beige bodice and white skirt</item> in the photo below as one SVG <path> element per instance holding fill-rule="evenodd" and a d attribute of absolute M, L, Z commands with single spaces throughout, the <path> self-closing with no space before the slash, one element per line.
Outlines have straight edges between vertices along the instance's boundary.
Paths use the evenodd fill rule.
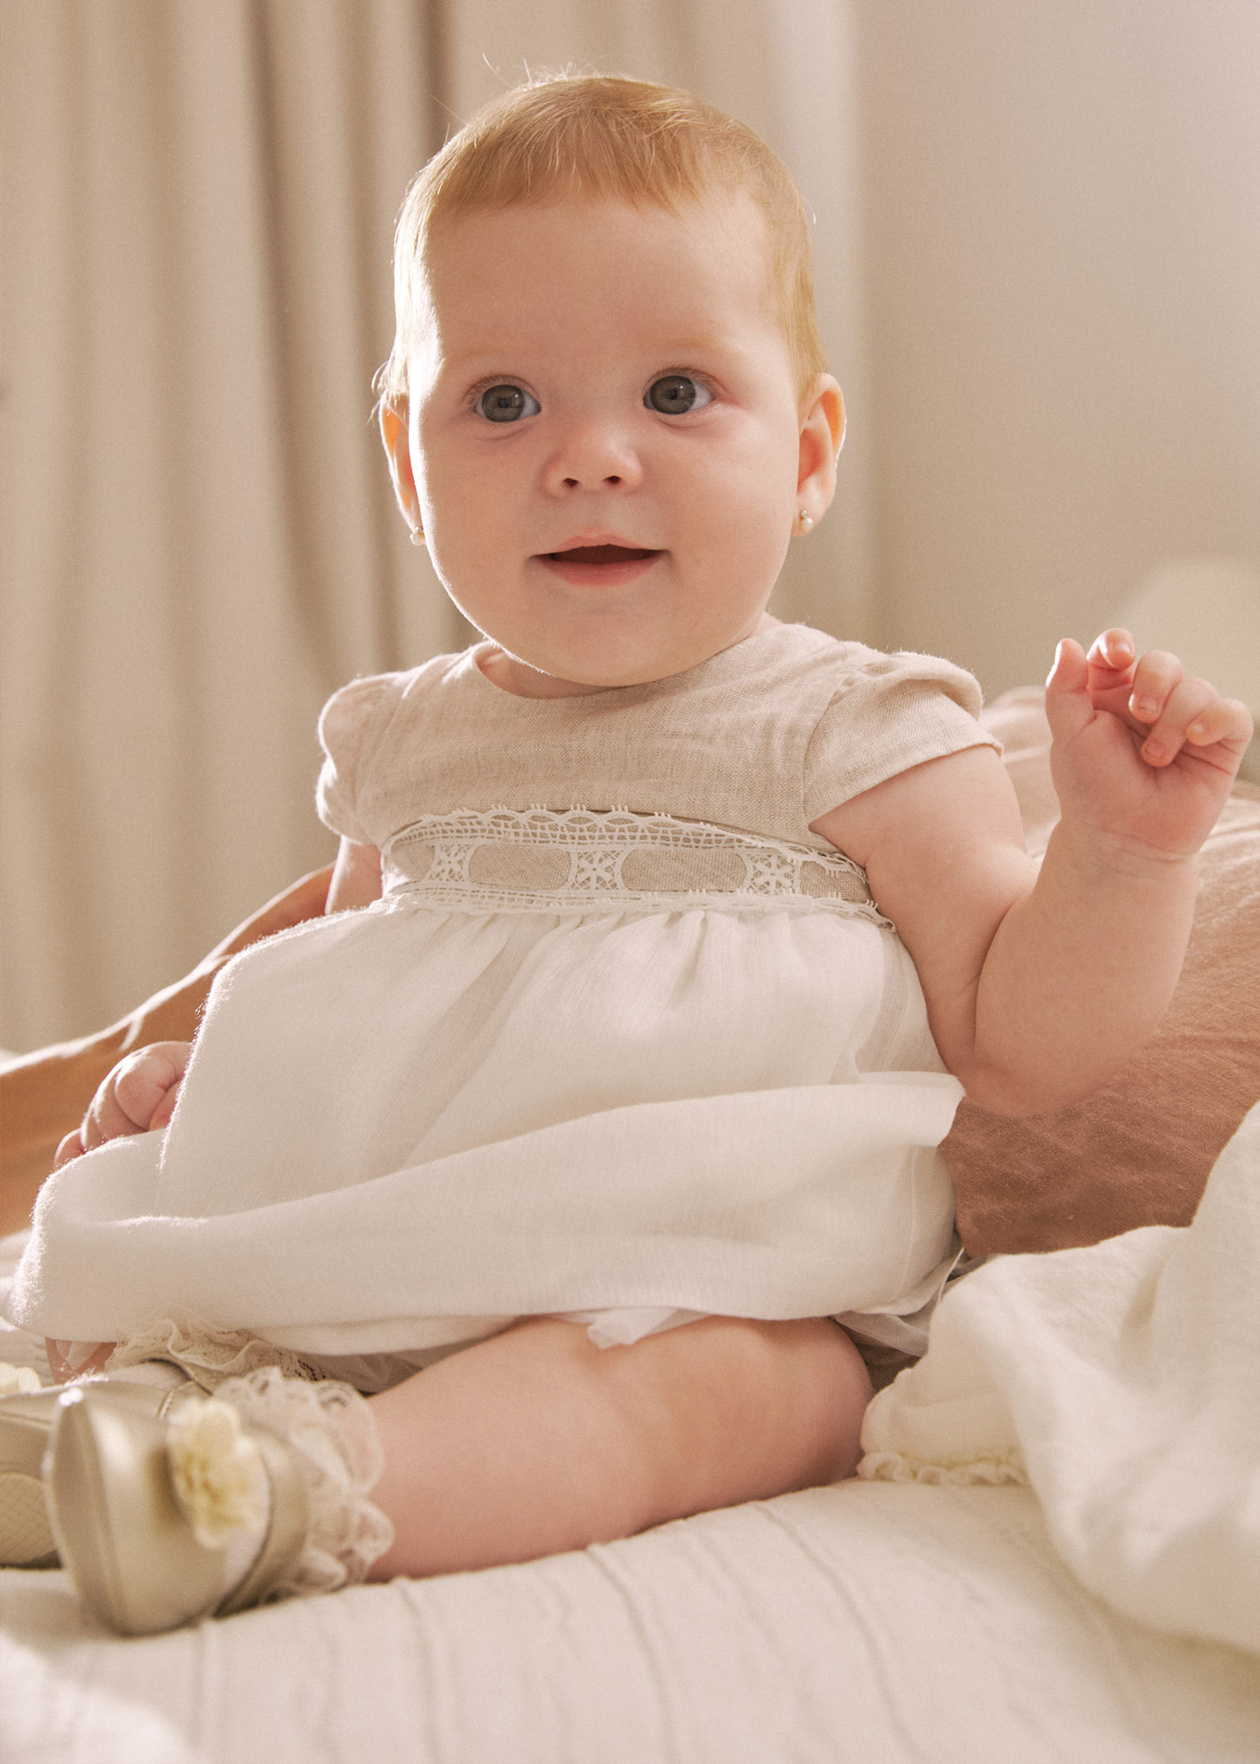
<path fill-rule="evenodd" d="M 992 743 L 976 683 L 771 624 L 521 699 L 489 649 L 330 700 L 319 811 L 381 848 L 383 900 L 224 968 L 169 1129 L 46 1184 L 14 1321 L 178 1307 L 372 1388 L 522 1314 L 879 1339 L 941 1284 L 960 1085 L 810 822 Z"/>

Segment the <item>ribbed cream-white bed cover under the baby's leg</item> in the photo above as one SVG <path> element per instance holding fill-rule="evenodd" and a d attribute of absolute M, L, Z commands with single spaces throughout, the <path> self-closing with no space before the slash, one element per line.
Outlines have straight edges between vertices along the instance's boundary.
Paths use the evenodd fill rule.
<path fill-rule="evenodd" d="M 146 1641 L 5 1570 L 0 1757 L 1251 1764 L 1260 1662 L 1085 1591 L 1029 1489 L 847 1482 Z"/>

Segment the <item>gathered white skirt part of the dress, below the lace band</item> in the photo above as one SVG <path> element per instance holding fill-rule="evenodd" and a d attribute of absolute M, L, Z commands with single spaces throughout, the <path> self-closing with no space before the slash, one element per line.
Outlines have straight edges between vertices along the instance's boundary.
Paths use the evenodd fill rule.
<path fill-rule="evenodd" d="M 872 910 L 732 900 L 476 910 L 404 877 L 244 951 L 169 1129 L 44 1185 L 12 1321 L 178 1309 L 337 1360 L 526 1314 L 919 1309 L 962 1088 L 914 965 Z"/>

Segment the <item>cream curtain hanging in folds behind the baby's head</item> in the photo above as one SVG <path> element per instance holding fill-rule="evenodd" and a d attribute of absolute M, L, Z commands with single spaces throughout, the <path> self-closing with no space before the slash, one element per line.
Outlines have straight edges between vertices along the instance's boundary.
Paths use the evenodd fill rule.
<path fill-rule="evenodd" d="M 408 180 L 565 64 L 690 85 L 819 213 L 856 441 L 778 610 L 868 630 L 844 0 L 0 0 L 0 1044 L 106 1023 L 332 841 L 314 718 L 466 640 L 371 425 Z"/>

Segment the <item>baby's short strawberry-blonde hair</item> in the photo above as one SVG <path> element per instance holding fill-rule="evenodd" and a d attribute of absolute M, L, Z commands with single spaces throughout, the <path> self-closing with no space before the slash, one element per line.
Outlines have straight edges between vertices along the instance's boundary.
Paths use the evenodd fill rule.
<path fill-rule="evenodd" d="M 748 194 L 766 219 L 769 293 L 798 390 L 826 372 L 814 312 L 810 219 L 782 161 L 745 123 L 678 86 L 568 74 L 505 92 L 418 173 L 394 240 L 394 349 L 376 376 L 383 406 L 408 392 L 427 314 L 425 250 L 443 220 L 565 196 L 678 210 Z"/>

